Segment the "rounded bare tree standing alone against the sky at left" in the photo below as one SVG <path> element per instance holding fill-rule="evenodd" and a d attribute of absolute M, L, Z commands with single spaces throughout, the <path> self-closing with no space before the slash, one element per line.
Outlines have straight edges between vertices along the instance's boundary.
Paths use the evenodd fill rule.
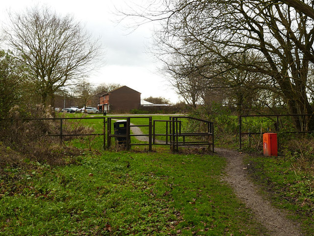
<path fill-rule="evenodd" d="M 48 7 L 11 14 L 5 29 L 9 46 L 24 63 L 42 103 L 54 104 L 54 92 L 88 76 L 99 64 L 100 44 L 73 17 Z"/>

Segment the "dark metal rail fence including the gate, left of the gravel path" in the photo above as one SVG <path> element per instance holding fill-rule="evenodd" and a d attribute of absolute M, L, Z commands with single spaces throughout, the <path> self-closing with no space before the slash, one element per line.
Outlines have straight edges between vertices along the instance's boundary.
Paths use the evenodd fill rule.
<path fill-rule="evenodd" d="M 144 118 L 147 119 L 145 124 L 136 125 L 131 123 L 131 119 Z M 103 120 L 103 131 L 101 133 L 77 133 L 77 134 L 68 134 L 64 133 L 64 123 L 66 120 L 88 120 L 88 119 L 102 119 Z M 112 133 L 113 120 L 126 119 L 126 133 L 117 134 Z M 183 132 L 182 130 L 182 120 L 180 119 L 190 119 L 197 120 L 206 126 L 206 132 Z M 10 119 L 0 119 L 0 121 L 10 120 Z M 202 120 L 198 118 L 185 117 L 185 116 L 176 116 L 169 117 L 169 120 L 153 120 L 152 117 L 93 117 L 93 118 L 24 118 L 22 123 L 25 121 L 31 120 L 53 120 L 58 123 L 58 130 L 55 132 L 50 132 L 42 134 L 42 136 L 51 136 L 59 137 L 60 143 L 62 144 L 65 137 L 72 136 L 103 136 L 103 148 L 110 148 L 112 145 L 112 139 L 117 140 L 118 138 L 123 138 L 125 140 L 124 146 L 127 150 L 131 146 L 148 146 L 148 149 L 151 151 L 153 145 L 166 145 L 170 146 L 173 151 L 178 151 L 180 146 L 199 146 L 206 145 L 211 146 L 211 150 L 214 151 L 214 125 L 213 122 L 208 120 Z M 165 133 L 156 133 L 156 127 L 158 122 L 165 122 Z M 1 125 L 0 125 L 1 126 Z M 132 127 L 147 127 L 147 133 L 131 133 Z M 27 136 L 31 136 L 28 134 Z M 1 136 L 1 134 L 0 134 Z M 3 135 L 2 135 L 3 136 Z M 165 141 L 157 141 L 157 137 L 164 136 Z M 135 143 L 131 142 L 131 137 L 146 137 L 146 142 Z M 194 139 L 193 141 L 187 140 L 188 137 L 203 137 L 203 140 Z M 204 141 L 205 140 L 205 141 Z"/>

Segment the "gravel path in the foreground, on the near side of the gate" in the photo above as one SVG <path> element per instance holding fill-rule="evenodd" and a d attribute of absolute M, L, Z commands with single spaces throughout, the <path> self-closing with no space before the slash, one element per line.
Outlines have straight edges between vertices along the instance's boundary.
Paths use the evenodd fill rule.
<path fill-rule="evenodd" d="M 255 213 L 257 219 L 271 236 L 302 236 L 299 227 L 285 218 L 285 214 L 270 205 L 259 193 L 258 187 L 249 180 L 242 155 L 234 150 L 215 148 L 218 155 L 227 158 L 227 175 L 224 180 L 234 189 L 236 196 Z"/>

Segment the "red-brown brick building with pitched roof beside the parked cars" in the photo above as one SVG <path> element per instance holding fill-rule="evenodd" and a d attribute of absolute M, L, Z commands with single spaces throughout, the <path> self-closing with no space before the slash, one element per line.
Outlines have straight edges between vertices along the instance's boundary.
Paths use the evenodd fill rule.
<path fill-rule="evenodd" d="M 98 109 L 102 111 L 130 111 L 139 109 L 141 93 L 127 86 L 100 95 Z"/>

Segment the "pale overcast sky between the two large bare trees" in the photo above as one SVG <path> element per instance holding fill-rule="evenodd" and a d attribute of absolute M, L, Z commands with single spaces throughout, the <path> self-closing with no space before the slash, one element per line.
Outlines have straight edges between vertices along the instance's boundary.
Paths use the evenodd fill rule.
<path fill-rule="evenodd" d="M 23 11 L 26 7 L 46 4 L 62 15 L 71 14 L 86 26 L 95 37 L 100 37 L 105 48 L 105 65 L 90 76 L 90 82 L 119 83 L 141 92 L 141 98 L 165 97 L 176 103 L 179 99 L 166 79 L 158 73 L 158 62 L 147 54 L 153 25 L 144 25 L 130 32 L 127 22 L 113 21 L 115 6 L 123 9 L 125 0 L 7 0 L 1 1 L 0 19 L 7 12 Z M 142 2 L 142 0 L 132 0 Z M 130 23 L 130 22 L 128 22 Z"/>

